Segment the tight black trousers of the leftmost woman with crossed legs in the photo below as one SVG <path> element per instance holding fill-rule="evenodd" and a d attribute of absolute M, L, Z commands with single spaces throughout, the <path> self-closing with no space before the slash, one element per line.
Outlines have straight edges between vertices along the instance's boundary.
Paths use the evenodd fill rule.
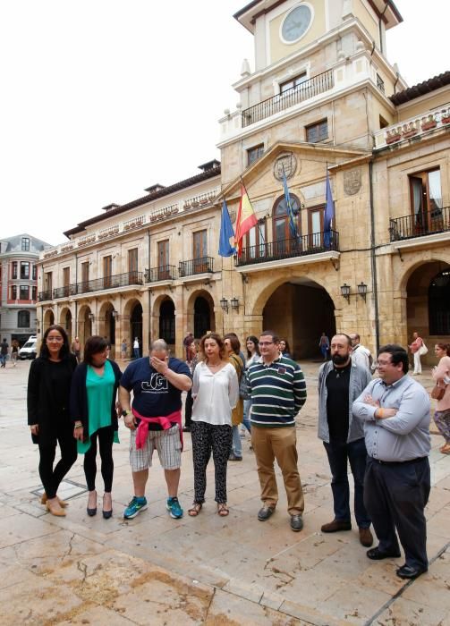
<path fill-rule="evenodd" d="M 56 442 L 59 444 L 61 459 L 53 463 L 56 454 Z M 58 487 L 77 460 L 77 441 L 72 429 L 64 429 L 55 437 L 55 441 L 39 444 L 39 476 L 47 494 L 47 498 L 54 498 Z"/>

